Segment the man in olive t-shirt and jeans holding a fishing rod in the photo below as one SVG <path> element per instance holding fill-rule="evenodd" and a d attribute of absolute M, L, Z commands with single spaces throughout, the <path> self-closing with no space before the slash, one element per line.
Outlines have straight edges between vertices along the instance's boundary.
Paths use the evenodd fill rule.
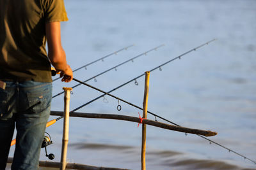
<path fill-rule="evenodd" d="M 16 125 L 12 169 L 38 169 L 51 108 L 51 64 L 72 80 L 61 46 L 63 0 L 0 1 L 0 169 L 5 169 Z M 48 57 L 45 50 L 47 39 Z"/>

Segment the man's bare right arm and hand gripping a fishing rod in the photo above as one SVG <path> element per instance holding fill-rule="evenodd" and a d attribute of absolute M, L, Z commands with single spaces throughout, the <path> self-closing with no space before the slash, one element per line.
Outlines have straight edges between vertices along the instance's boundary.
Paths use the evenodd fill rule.
<path fill-rule="evenodd" d="M 60 22 L 48 22 L 45 24 L 48 57 L 56 71 L 61 71 L 61 81 L 69 82 L 73 78 L 72 69 L 67 64 L 66 53 L 61 45 Z"/>

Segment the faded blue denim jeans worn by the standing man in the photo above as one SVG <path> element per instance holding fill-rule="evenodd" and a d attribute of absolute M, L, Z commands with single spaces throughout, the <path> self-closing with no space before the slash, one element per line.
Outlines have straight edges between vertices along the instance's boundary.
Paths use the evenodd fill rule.
<path fill-rule="evenodd" d="M 7 81 L 6 89 L 0 89 L 0 169 L 6 167 L 15 124 L 12 169 L 38 169 L 51 98 L 51 83 Z"/>

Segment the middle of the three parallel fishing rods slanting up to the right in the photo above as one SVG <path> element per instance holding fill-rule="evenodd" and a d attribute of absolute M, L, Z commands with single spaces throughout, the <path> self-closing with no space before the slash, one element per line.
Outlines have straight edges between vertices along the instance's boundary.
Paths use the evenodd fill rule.
<path fill-rule="evenodd" d="M 103 71 L 102 73 L 99 73 L 99 74 L 97 74 L 96 76 L 92 76 L 92 77 L 89 78 L 88 80 L 84 80 L 84 81 L 82 81 L 82 82 L 85 83 L 86 81 L 90 81 L 90 80 L 92 80 L 92 79 L 94 79 L 94 81 L 97 81 L 97 80 L 96 80 L 96 77 L 97 77 L 97 76 L 100 76 L 100 75 L 102 75 L 102 74 L 104 74 L 104 73 L 107 73 L 108 71 L 111 71 L 112 69 L 117 70 L 117 69 L 116 69 L 117 67 L 122 66 L 123 64 L 125 64 L 125 63 L 127 63 L 127 62 L 129 62 L 129 61 L 133 61 L 134 59 L 136 59 L 136 58 L 138 58 L 138 57 L 141 57 L 142 55 L 147 55 L 148 52 L 152 52 L 153 50 L 157 50 L 157 48 L 160 48 L 160 47 L 162 47 L 162 46 L 164 46 L 164 45 L 156 46 L 155 48 L 152 48 L 152 49 L 148 50 L 147 52 L 143 52 L 143 53 L 141 53 L 140 55 L 137 55 L 137 56 L 135 56 L 135 57 L 132 57 L 131 59 L 126 60 L 125 62 L 122 62 L 122 63 L 120 63 L 120 64 L 118 64 L 118 65 L 116 65 L 116 66 L 114 66 L 114 67 L 111 67 L 111 68 L 107 69 L 106 71 Z M 78 83 L 77 85 L 74 85 L 74 86 L 72 87 L 72 89 L 74 89 L 75 87 L 77 87 L 77 86 L 79 86 L 79 85 L 81 85 L 81 84 L 83 84 L 83 83 Z M 63 94 L 63 93 L 64 93 L 64 92 L 60 92 L 60 93 L 58 93 L 58 94 L 52 96 L 52 99 L 53 99 L 54 97 L 60 96 L 60 95 Z"/>

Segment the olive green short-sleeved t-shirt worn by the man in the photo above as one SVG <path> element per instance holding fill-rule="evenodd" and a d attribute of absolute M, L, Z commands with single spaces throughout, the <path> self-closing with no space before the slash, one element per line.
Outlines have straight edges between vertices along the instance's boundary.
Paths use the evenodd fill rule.
<path fill-rule="evenodd" d="M 1 0 L 0 80 L 51 82 L 45 23 L 67 20 L 63 0 Z"/>

